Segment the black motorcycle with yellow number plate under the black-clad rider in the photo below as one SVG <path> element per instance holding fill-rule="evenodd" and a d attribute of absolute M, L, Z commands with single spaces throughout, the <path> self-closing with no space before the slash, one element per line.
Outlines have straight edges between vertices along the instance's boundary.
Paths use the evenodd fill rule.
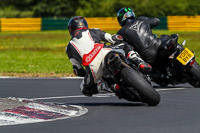
<path fill-rule="evenodd" d="M 182 44 L 177 41 L 178 35 L 173 35 L 161 45 L 151 78 L 160 86 L 189 83 L 200 87 L 200 65 L 195 61 L 195 54 L 183 47 L 186 41 Z"/>

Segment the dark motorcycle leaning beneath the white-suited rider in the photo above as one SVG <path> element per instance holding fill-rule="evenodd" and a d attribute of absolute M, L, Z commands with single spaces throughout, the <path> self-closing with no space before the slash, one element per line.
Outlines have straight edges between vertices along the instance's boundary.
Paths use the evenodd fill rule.
<path fill-rule="evenodd" d="M 117 90 L 113 89 L 119 98 L 147 103 L 149 106 L 156 106 L 160 102 L 160 95 L 152 87 L 149 78 L 133 64 L 128 63 L 119 52 L 110 52 L 106 55 L 103 79 L 110 84 L 109 86 L 120 86 Z"/>

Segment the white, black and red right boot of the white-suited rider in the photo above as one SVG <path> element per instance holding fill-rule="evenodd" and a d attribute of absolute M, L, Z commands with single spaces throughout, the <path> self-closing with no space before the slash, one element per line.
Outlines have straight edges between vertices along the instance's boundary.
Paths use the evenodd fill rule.
<path fill-rule="evenodd" d="M 148 74 L 151 72 L 152 67 L 148 63 L 146 63 L 144 60 L 142 60 L 137 52 L 130 51 L 128 53 L 127 58 L 131 61 L 131 63 L 136 65 L 140 69 L 141 72 L 145 74 Z"/>

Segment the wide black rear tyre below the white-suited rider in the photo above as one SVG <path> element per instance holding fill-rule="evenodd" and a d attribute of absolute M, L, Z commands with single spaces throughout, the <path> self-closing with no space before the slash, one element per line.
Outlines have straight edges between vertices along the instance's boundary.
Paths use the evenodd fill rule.
<path fill-rule="evenodd" d="M 149 106 L 156 106 L 160 103 L 160 94 L 137 72 L 132 68 L 124 68 L 121 71 L 122 80 L 133 90 L 139 93 L 142 102 Z"/>

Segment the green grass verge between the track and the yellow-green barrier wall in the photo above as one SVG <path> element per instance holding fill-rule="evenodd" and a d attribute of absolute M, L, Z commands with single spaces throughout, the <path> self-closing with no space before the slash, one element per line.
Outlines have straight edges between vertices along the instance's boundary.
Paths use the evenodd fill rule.
<path fill-rule="evenodd" d="M 108 31 L 115 34 L 116 31 Z M 154 30 L 155 34 L 174 32 Z M 179 43 L 195 51 L 200 62 L 200 32 L 176 32 Z M 9 73 L 71 74 L 72 66 L 65 53 L 70 40 L 68 31 L 0 32 L 0 75 Z M 31 76 L 31 75 L 30 75 Z M 55 75 L 54 75 L 55 76 Z"/>

